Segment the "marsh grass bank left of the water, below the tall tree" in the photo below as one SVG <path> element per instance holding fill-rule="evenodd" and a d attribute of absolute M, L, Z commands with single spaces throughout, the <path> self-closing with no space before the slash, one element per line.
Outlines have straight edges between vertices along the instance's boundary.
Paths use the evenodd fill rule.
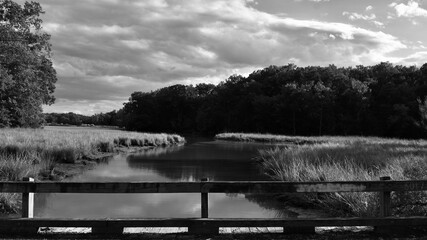
<path fill-rule="evenodd" d="M 62 180 L 119 152 L 183 144 L 179 135 L 88 127 L 0 130 L 0 181 Z M 0 194 L 0 212 L 19 212 L 20 194 Z"/>

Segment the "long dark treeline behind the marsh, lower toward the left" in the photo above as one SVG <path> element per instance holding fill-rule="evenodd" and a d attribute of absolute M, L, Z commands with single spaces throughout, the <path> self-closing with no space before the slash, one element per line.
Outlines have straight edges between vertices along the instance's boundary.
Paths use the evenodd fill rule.
<path fill-rule="evenodd" d="M 427 136 L 427 63 L 270 66 L 214 84 L 134 92 L 122 109 L 47 123 L 115 125 L 143 132 Z"/>

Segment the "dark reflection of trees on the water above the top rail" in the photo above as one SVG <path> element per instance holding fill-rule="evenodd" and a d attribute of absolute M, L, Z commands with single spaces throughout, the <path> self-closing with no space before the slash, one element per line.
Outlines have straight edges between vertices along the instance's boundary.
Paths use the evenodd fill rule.
<path fill-rule="evenodd" d="M 178 181 L 210 180 L 268 180 L 253 160 L 260 148 L 268 145 L 234 142 L 195 143 L 171 154 L 131 155 L 131 168 L 151 170 Z"/>

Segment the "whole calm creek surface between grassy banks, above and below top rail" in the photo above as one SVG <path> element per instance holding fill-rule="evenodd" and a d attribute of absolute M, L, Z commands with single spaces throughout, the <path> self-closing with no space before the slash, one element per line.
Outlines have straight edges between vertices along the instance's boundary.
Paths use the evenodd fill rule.
<path fill-rule="evenodd" d="M 71 181 L 269 180 L 253 160 L 272 145 L 196 141 L 118 155 Z M 222 218 L 283 217 L 271 197 L 209 194 L 209 216 Z M 37 194 L 37 217 L 164 218 L 200 217 L 200 194 Z"/>

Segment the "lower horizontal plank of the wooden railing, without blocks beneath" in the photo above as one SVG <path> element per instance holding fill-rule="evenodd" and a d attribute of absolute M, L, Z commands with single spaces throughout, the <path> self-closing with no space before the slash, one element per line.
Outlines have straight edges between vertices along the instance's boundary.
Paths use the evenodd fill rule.
<path fill-rule="evenodd" d="M 9 227 L 330 227 L 330 226 L 427 226 L 427 217 L 318 218 L 318 219 L 0 219 L 1 228 Z"/>

